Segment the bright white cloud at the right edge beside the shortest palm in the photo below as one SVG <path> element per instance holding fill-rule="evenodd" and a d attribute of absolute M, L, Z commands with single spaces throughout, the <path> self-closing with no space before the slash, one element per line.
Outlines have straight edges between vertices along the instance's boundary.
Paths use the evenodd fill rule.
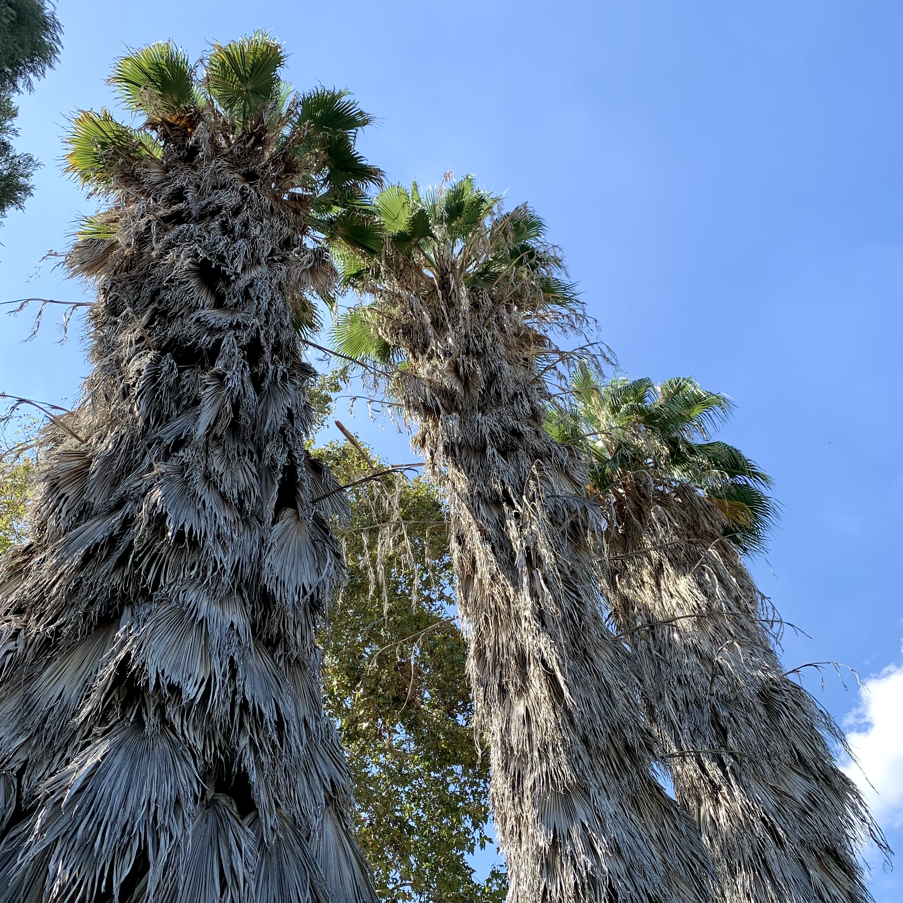
<path fill-rule="evenodd" d="M 847 727 L 859 764 L 844 771 L 882 827 L 903 827 L 903 666 L 889 666 L 864 682 Z"/>

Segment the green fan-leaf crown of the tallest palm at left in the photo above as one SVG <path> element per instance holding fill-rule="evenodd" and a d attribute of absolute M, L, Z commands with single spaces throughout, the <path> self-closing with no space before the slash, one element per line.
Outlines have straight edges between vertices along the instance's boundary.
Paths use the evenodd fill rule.
<path fill-rule="evenodd" d="M 255 32 L 214 43 L 194 63 L 173 42 L 129 51 L 108 81 L 140 126 L 107 109 L 71 119 L 66 171 L 92 193 L 116 194 L 136 173 L 160 172 L 197 154 L 227 154 L 268 165 L 277 195 L 302 204 L 329 232 L 340 211 L 382 183 L 355 147 L 371 117 L 349 91 L 294 92 L 282 78 L 282 43 Z M 254 158 L 252 160 L 252 158 Z M 247 172 L 248 181 L 261 172 Z"/>

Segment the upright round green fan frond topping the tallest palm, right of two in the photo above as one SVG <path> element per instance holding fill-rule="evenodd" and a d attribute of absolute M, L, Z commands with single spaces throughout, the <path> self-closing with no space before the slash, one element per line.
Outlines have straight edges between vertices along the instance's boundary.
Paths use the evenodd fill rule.
<path fill-rule="evenodd" d="M 282 44 L 267 32 L 255 32 L 228 44 L 215 44 L 207 61 L 210 94 L 239 127 L 245 128 L 283 95 L 279 70 L 285 63 Z"/>

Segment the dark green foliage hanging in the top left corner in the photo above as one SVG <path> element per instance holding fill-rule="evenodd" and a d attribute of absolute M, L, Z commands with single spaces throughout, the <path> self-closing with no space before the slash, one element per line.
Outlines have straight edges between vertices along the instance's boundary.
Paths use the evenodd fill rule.
<path fill-rule="evenodd" d="M 31 91 L 57 61 L 61 25 L 44 0 L 0 0 L 0 218 L 22 209 L 31 197 L 31 177 L 38 166 L 32 154 L 17 154 L 12 139 L 17 91 Z"/>

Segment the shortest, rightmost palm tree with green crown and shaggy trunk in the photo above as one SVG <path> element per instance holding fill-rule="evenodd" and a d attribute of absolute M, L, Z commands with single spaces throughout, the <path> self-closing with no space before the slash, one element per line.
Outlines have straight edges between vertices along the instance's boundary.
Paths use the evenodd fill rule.
<path fill-rule="evenodd" d="M 725 903 L 861 903 L 861 838 L 883 845 L 834 764 L 841 731 L 789 679 L 775 615 L 743 563 L 775 517 L 768 476 L 712 442 L 731 412 L 693 379 L 661 386 L 582 368 L 552 433 L 580 446 L 604 505 L 605 591 L 637 656 L 675 796 L 712 853 Z"/>

